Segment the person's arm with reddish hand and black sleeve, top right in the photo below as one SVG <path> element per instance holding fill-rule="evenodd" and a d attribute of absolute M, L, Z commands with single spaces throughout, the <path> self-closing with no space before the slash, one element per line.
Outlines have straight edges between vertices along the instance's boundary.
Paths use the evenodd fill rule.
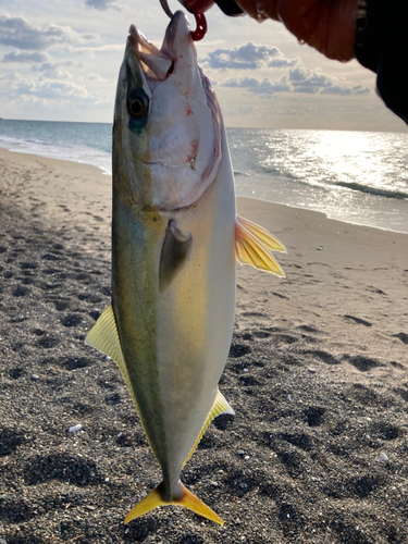
<path fill-rule="evenodd" d="M 215 0 L 222 5 L 231 0 Z M 259 22 L 281 21 L 299 40 L 378 74 L 385 104 L 408 123 L 408 0 L 236 0 Z"/>

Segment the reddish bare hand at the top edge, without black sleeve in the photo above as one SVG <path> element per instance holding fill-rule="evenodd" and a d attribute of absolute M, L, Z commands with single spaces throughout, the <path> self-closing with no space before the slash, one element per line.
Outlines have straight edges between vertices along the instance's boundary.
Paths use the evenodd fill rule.
<path fill-rule="evenodd" d="M 329 59 L 349 61 L 355 57 L 358 0 L 236 0 L 259 22 L 281 21 L 298 40 Z"/>

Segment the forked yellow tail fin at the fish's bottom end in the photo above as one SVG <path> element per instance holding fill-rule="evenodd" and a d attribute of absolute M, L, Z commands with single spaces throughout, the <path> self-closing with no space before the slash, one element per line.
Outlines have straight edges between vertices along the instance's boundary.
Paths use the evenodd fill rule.
<path fill-rule="evenodd" d="M 185 487 L 183 484 L 182 498 L 177 500 L 163 500 L 160 496 L 159 487 L 160 485 L 158 485 L 152 492 L 150 492 L 145 498 L 143 498 L 136 506 L 132 508 L 132 510 L 125 517 L 125 523 L 128 523 L 135 518 L 139 518 L 144 514 L 147 514 L 158 506 L 178 505 L 185 506 L 199 516 L 210 519 L 211 521 L 215 521 L 215 523 L 220 523 L 220 526 L 224 524 L 223 520 L 219 516 L 217 516 L 217 514 L 211 510 L 210 507 L 205 505 L 202 500 L 193 495 L 193 493 L 188 491 L 187 487 Z"/>

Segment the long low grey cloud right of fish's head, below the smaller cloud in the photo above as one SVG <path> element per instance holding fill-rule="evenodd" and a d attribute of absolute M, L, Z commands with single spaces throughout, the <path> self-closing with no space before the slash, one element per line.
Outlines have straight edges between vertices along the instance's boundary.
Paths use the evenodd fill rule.
<path fill-rule="evenodd" d="M 257 79 L 256 77 L 231 78 L 221 84 L 223 87 L 240 88 L 252 95 L 271 97 L 277 92 L 306 92 L 309 95 L 338 95 L 358 96 L 369 95 L 371 90 L 361 85 L 342 86 L 335 83 L 335 78 L 323 74 L 319 70 L 306 70 L 297 66 L 289 70 L 288 75 L 283 75 L 277 82 L 269 77 Z"/>

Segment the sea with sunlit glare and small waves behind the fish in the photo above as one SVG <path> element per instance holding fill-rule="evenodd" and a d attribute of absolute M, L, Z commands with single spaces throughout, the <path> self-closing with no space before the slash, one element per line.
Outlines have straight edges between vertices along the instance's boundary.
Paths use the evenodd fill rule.
<path fill-rule="evenodd" d="M 238 196 L 408 233 L 408 134 L 227 128 Z M 111 173 L 112 125 L 0 120 L 0 147 Z"/>

